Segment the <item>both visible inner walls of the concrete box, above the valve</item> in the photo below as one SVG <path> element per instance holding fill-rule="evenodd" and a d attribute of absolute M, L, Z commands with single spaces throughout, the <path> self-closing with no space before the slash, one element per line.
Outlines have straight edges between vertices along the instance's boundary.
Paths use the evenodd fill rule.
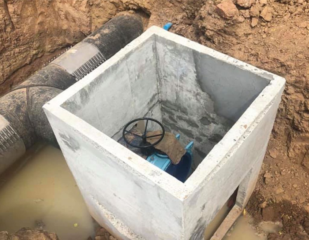
<path fill-rule="evenodd" d="M 166 131 L 180 134 L 183 146 L 194 142 L 194 171 L 268 84 L 250 71 L 153 35 L 62 107 L 115 141 L 135 118 L 159 120 Z"/>

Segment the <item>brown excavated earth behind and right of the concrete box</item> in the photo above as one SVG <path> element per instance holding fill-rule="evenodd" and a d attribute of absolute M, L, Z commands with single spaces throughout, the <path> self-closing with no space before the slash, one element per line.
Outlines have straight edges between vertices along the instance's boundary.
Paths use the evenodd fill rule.
<path fill-rule="evenodd" d="M 265 218 L 268 211 L 267 218 L 283 221 L 282 232 L 269 239 L 306 239 L 307 1 L 2 1 L 0 95 L 115 15 L 135 12 L 143 18 L 145 28 L 171 21 L 174 23 L 171 32 L 286 78 L 261 175 L 248 208 L 256 220 Z"/>

